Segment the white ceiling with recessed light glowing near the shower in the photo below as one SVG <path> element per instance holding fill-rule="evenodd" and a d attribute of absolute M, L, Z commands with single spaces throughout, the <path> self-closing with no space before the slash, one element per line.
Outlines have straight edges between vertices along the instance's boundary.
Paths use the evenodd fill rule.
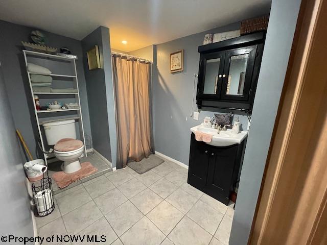
<path fill-rule="evenodd" d="M 126 52 L 268 13 L 271 0 L 4 0 L 0 19 L 78 40 L 110 28 Z M 128 43 L 122 44 L 122 40 Z"/>

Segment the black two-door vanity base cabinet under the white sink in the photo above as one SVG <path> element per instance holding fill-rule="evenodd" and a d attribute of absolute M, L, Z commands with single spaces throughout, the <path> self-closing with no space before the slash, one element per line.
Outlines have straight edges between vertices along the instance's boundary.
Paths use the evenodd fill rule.
<path fill-rule="evenodd" d="M 217 147 L 197 141 L 192 133 L 188 183 L 228 205 L 238 179 L 245 141 Z"/>

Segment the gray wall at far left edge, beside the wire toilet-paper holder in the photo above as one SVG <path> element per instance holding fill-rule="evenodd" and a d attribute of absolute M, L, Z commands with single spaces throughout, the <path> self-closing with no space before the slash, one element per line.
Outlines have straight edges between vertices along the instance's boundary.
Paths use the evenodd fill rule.
<path fill-rule="evenodd" d="M 1 60 L 3 57 L 0 56 Z M 23 163 L 0 65 L 0 236 L 33 237 Z M 9 243 L 8 243 L 9 244 Z M 28 243 L 32 244 L 32 243 Z"/>

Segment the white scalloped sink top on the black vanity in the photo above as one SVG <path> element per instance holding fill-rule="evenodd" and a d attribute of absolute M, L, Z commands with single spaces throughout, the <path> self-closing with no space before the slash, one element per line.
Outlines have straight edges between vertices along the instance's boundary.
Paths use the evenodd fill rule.
<path fill-rule="evenodd" d="M 191 131 L 194 134 L 198 130 L 206 134 L 212 134 L 213 139 L 207 144 L 214 146 L 228 146 L 232 144 L 240 144 L 247 137 L 247 131 L 240 131 L 240 133 L 238 134 L 233 134 L 231 130 L 228 129 L 226 131 L 221 130 L 218 134 L 217 129 L 206 128 L 202 125 L 198 125 L 191 128 Z"/>

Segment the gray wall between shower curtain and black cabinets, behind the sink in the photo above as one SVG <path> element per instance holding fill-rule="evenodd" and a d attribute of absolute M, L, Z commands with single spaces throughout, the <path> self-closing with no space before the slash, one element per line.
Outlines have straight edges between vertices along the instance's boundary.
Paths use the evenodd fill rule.
<path fill-rule="evenodd" d="M 203 44 L 203 37 L 206 33 L 226 32 L 239 28 L 240 23 L 232 23 L 225 27 L 155 45 L 157 63 L 154 64 L 153 70 L 153 97 L 155 150 L 157 152 L 189 165 L 190 128 L 201 124 L 205 116 L 214 115 L 214 112 L 201 111 L 199 120 L 193 120 L 190 117 L 194 73 L 199 71 L 198 46 Z M 180 49 L 184 50 L 184 70 L 171 74 L 170 53 Z M 194 100 L 194 111 L 197 111 L 196 100 Z M 246 129 L 247 116 L 238 116 L 243 129 Z"/>

